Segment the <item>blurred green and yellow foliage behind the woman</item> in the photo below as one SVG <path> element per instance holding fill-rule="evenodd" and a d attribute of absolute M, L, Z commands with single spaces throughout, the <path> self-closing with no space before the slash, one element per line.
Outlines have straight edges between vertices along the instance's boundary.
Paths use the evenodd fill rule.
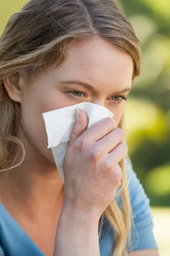
<path fill-rule="evenodd" d="M 0 34 L 27 0 L 0 0 Z M 142 43 L 142 72 L 126 106 L 133 169 L 151 205 L 170 206 L 170 1 L 115 0 Z"/>

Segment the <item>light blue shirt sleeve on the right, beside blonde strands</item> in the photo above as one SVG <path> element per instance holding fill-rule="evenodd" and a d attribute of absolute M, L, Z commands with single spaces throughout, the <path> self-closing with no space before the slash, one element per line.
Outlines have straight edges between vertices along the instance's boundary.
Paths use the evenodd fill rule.
<path fill-rule="evenodd" d="M 133 212 L 132 246 L 129 251 L 158 249 L 153 236 L 153 217 L 150 201 L 132 169 L 130 160 L 127 160 L 125 166 L 127 167 L 127 179 L 129 180 L 130 201 Z"/>

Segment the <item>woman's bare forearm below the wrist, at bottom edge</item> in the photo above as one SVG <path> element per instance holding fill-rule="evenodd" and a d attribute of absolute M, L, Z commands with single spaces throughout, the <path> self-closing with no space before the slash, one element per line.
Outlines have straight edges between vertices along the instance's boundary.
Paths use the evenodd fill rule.
<path fill-rule="evenodd" d="M 99 220 L 85 212 L 62 208 L 54 256 L 99 256 Z"/>

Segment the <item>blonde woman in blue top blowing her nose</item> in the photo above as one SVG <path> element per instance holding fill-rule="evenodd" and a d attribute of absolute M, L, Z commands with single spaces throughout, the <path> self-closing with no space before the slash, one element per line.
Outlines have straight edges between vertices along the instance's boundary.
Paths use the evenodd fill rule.
<path fill-rule="evenodd" d="M 148 199 L 123 160 L 140 60 L 112 0 L 30 0 L 11 17 L 0 39 L 0 255 L 158 256 Z M 79 110 L 63 186 L 42 113 L 84 101 L 114 119 L 87 130 Z"/>

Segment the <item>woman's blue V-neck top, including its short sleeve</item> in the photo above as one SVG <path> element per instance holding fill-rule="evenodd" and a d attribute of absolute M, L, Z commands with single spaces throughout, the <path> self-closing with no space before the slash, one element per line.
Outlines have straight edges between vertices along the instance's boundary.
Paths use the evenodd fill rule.
<path fill-rule="evenodd" d="M 130 163 L 125 164 L 127 177 L 130 177 L 129 191 L 133 210 L 132 249 L 158 248 L 153 236 L 153 222 L 149 206 L 149 199 L 144 193 L 142 185 L 133 172 Z M 120 197 L 116 198 L 119 206 Z M 99 239 L 100 256 L 112 256 L 115 232 L 111 224 L 106 221 L 102 226 Z M 31 238 L 17 224 L 7 210 L 0 204 L 0 256 L 44 256 L 42 251 Z"/>

